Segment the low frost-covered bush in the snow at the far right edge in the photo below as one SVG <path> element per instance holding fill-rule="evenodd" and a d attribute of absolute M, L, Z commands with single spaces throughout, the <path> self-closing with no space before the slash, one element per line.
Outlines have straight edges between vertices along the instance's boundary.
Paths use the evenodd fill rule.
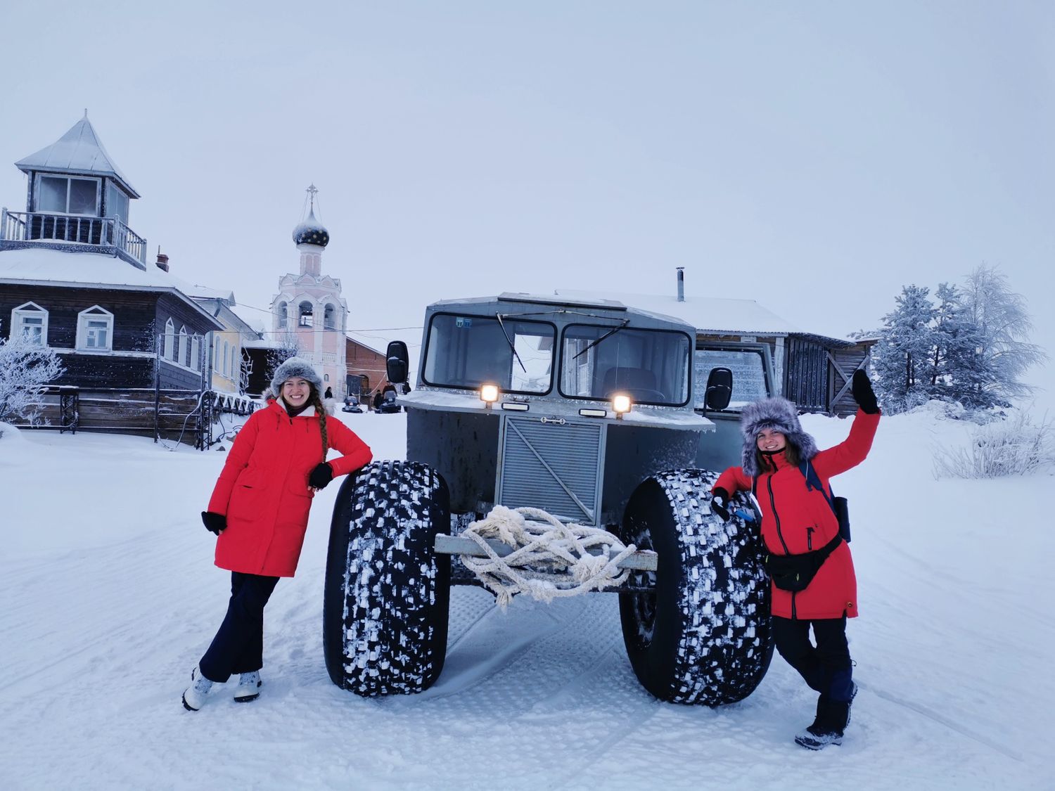
<path fill-rule="evenodd" d="M 1001 478 L 1035 472 L 1055 463 L 1051 421 L 1034 424 L 1030 413 L 1015 410 L 972 431 L 971 444 L 939 448 L 935 452 L 936 478 Z"/>

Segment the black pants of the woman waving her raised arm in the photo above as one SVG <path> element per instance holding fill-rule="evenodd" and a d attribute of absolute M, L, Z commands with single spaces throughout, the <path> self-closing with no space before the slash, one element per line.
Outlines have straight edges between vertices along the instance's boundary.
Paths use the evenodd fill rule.
<path fill-rule="evenodd" d="M 813 628 L 814 647 L 809 641 Z M 806 683 L 826 698 L 839 702 L 853 696 L 853 664 L 846 643 L 846 616 L 812 621 L 773 616 L 773 640 L 788 664 Z"/>

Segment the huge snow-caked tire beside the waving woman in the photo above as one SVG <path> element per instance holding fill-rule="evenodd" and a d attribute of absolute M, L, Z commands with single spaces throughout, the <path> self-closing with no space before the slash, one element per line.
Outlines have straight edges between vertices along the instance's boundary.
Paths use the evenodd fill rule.
<path fill-rule="evenodd" d="M 711 513 L 715 472 L 660 472 L 627 504 L 621 537 L 654 549 L 655 573 L 635 581 L 654 593 L 619 595 L 627 653 L 641 684 L 661 700 L 720 706 L 750 695 L 772 657 L 769 582 L 756 525 Z M 750 508 L 738 495 L 733 508 Z"/>

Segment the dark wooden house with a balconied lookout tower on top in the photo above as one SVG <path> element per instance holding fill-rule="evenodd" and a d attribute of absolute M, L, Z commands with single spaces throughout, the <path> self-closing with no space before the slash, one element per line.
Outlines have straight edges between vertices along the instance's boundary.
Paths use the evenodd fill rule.
<path fill-rule="evenodd" d="M 80 388 L 82 400 L 140 393 L 156 404 L 160 391 L 209 389 L 212 333 L 225 325 L 165 256 L 147 262 L 147 240 L 129 226 L 139 194 L 88 115 L 16 167 L 28 184 L 24 211 L 0 211 L 0 336 L 54 349 L 65 368 L 54 384 Z M 90 412 L 81 409 L 81 428 Z M 119 428 L 121 417 L 114 408 L 97 425 Z M 154 417 L 156 428 L 156 407 Z"/>

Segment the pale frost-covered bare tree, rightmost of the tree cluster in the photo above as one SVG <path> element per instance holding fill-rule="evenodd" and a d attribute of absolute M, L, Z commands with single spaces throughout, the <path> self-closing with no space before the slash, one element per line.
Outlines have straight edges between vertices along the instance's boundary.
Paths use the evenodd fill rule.
<path fill-rule="evenodd" d="M 1048 355 L 1027 341 L 1033 322 L 1025 297 L 1011 290 L 997 267 L 981 265 L 967 275 L 960 304 L 977 330 L 971 377 L 961 394 L 964 406 L 1006 405 L 1008 399 L 1029 396 L 1033 388 L 1020 377 Z"/>

